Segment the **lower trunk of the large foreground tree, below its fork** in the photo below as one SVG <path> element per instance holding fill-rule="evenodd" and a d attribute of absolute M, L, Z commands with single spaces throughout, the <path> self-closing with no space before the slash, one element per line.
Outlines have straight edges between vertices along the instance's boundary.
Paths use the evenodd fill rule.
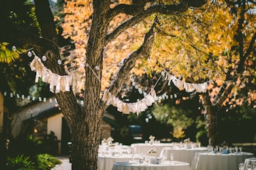
<path fill-rule="evenodd" d="M 97 169 L 101 119 L 95 117 L 93 120 L 79 121 L 72 125 L 71 158 L 73 170 Z"/>

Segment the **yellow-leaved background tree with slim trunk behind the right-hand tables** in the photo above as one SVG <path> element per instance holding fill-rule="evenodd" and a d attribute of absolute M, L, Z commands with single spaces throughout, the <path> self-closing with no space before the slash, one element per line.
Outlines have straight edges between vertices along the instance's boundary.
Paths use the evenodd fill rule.
<path fill-rule="evenodd" d="M 221 110 L 241 103 L 255 107 L 255 87 L 251 86 L 255 84 L 255 74 L 251 74 L 255 73 L 255 29 L 250 26 L 255 24 L 255 3 L 213 2 L 168 19 L 163 16 L 159 32 L 169 39 L 160 39 L 158 53 L 152 54 L 166 57 L 151 62 L 159 62 L 188 83 L 210 83 L 209 93 L 202 93 L 200 101 L 209 143 L 216 145 L 222 142 L 218 135 Z"/>

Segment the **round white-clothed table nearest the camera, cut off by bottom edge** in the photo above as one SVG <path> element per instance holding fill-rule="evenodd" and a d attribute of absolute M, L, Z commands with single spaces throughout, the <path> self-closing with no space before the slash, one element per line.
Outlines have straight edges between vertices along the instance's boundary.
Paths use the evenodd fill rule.
<path fill-rule="evenodd" d="M 161 164 L 151 163 L 114 163 L 112 170 L 190 170 L 190 165 L 178 161 L 166 161 Z"/>

